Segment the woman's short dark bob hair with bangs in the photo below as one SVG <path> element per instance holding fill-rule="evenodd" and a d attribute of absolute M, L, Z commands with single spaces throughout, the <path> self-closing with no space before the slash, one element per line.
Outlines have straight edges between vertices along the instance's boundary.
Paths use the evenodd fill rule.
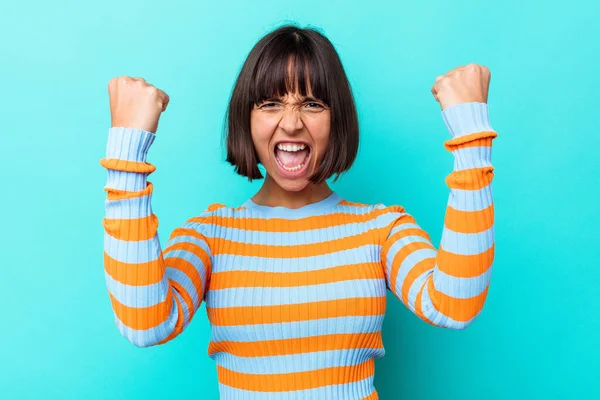
<path fill-rule="evenodd" d="M 290 62 L 292 68 L 288 66 Z M 288 76 L 290 72 L 294 76 Z M 254 106 L 297 90 L 306 96 L 308 84 L 313 97 L 331 109 L 329 144 L 322 164 L 309 179 L 321 183 L 337 174 L 336 181 L 350 169 L 358 153 L 358 115 L 339 55 L 329 39 L 316 29 L 286 24 L 254 45 L 233 87 L 225 116 L 225 135 L 226 161 L 235 167 L 235 172 L 251 182 L 263 178 L 250 132 Z"/>

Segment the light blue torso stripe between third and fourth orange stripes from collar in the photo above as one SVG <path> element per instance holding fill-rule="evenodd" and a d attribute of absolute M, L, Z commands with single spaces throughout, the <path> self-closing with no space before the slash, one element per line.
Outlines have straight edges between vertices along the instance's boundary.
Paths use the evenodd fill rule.
<path fill-rule="evenodd" d="M 238 287 L 210 290 L 206 304 L 210 308 L 274 306 L 358 297 L 385 296 L 384 279 L 355 279 L 295 287 Z"/>

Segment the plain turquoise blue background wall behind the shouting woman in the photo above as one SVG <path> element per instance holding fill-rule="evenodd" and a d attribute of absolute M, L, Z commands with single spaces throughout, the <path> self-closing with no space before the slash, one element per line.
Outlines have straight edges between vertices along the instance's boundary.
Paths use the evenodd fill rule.
<path fill-rule="evenodd" d="M 223 117 L 251 47 L 294 21 L 330 38 L 357 99 L 359 156 L 334 190 L 404 206 L 436 246 L 452 155 L 430 88 L 470 62 L 492 73 L 486 306 L 467 330 L 449 331 L 390 295 L 381 398 L 600 398 L 599 14 L 580 0 L 4 4 L 0 397 L 217 398 L 204 310 L 148 349 L 113 324 L 99 164 L 107 84 L 142 76 L 171 97 L 149 153 L 165 240 L 208 204 L 237 206 L 260 187 L 225 163 Z"/>

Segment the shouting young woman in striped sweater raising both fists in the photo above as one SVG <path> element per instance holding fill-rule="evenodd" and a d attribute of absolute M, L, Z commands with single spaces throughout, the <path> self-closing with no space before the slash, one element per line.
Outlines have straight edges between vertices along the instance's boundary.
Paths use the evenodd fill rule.
<path fill-rule="evenodd" d="M 109 83 L 112 127 L 104 265 L 121 334 L 140 347 L 181 334 L 206 301 L 224 399 L 376 399 L 386 289 L 429 324 L 478 316 L 494 258 L 490 73 L 469 64 L 432 93 L 452 138 L 439 250 L 401 206 L 360 204 L 326 179 L 358 149 L 352 92 L 334 47 L 283 26 L 246 59 L 227 110 L 227 161 L 260 190 L 212 204 L 161 248 L 146 154 L 169 102 L 141 78 Z M 398 175 L 398 174 L 396 174 Z"/>

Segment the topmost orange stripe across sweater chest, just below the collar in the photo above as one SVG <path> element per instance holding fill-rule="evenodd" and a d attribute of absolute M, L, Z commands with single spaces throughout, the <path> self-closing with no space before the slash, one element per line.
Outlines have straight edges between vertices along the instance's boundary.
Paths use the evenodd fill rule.
<path fill-rule="evenodd" d="M 399 210 L 404 209 L 399 206 L 389 206 L 387 208 L 376 209 L 365 214 L 341 212 L 306 217 L 297 220 L 289 220 L 284 218 L 270 218 L 268 220 L 263 218 L 245 218 L 243 221 L 243 229 L 260 232 L 297 232 L 312 229 L 332 228 L 338 225 L 367 222 L 380 215 L 384 215 L 389 212 L 399 212 Z M 240 218 L 232 216 L 222 217 L 218 215 L 209 215 L 203 217 L 194 217 L 190 218 L 188 222 L 213 224 L 221 228 L 240 228 L 241 226 Z"/>

